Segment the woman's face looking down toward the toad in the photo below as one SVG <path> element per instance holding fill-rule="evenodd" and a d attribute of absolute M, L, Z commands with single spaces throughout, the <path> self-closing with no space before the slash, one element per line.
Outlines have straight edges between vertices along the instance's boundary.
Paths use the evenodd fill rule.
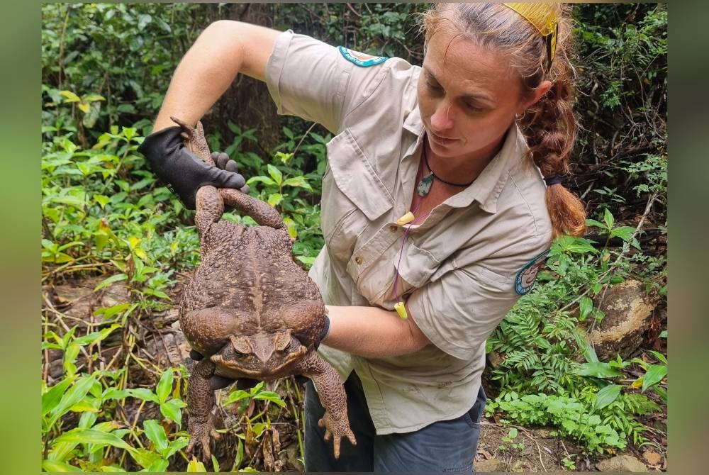
<path fill-rule="evenodd" d="M 486 160 L 527 104 L 506 57 L 443 29 L 428 43 L 418 106 L 438 157 Z"/>

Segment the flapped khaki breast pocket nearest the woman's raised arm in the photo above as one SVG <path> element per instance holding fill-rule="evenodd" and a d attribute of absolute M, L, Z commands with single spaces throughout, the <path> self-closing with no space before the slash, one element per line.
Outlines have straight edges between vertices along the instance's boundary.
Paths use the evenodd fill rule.
<path fill-rule="evenodd" d="M 327 148 L 321 225 L 330 256 L 346 262 L 359 235 L 392 208 L 393 198 L 350 129 L 336 135 Z"/>

